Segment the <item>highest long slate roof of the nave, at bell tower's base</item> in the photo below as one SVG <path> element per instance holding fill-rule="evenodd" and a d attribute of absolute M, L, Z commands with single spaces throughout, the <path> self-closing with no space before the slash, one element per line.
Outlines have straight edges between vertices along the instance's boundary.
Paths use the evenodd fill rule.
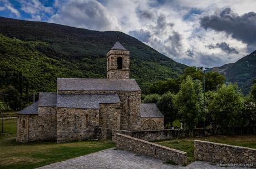
<path fill-rule="evenodd" d="M 57 78 L 58 91 L 141 91 L 134 79 Z"/>

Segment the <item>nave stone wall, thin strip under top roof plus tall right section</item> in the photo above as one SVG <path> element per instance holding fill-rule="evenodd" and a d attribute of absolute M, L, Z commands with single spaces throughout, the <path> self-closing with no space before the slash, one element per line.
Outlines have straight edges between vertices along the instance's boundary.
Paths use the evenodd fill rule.
<path fill-rule="evenodd" d="M 59 94 L 117 94 L 121 101 L 121 130 L 140 130 L 141 91 L 58 91 Z"/>

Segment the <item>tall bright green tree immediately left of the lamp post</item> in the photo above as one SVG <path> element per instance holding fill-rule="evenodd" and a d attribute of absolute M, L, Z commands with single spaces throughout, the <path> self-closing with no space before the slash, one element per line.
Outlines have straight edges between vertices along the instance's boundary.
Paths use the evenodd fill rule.
<path fill-rule="evenodd" d="M 173 104 L 178 110 L 181 121 L 188 125 L 190 134 L 198 121 L 203 118 L 203 89 L 199 80 L 186 77 L 180 85 L 180 91 L 174 96 Z"/>

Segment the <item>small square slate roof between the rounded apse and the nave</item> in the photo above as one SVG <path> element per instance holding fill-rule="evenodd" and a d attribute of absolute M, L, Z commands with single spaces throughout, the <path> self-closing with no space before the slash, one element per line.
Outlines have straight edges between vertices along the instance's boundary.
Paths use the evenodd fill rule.
<path fill-rule="evenodd" d="M 56 93 L 40 93 L 39 100 L 38 100 L 38 106 L 55 107 L 56 100 L 57 100 Z"/>

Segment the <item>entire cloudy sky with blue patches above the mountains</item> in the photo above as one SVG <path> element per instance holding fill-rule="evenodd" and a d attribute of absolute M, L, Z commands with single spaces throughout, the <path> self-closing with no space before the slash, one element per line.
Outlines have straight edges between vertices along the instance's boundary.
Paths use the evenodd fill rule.
<path fill-rule="evenodd" d="M 232 63 L 256 50 L 255 0 L 0 0 L 0 16 L 120 30 L 177 62 Z"/>

